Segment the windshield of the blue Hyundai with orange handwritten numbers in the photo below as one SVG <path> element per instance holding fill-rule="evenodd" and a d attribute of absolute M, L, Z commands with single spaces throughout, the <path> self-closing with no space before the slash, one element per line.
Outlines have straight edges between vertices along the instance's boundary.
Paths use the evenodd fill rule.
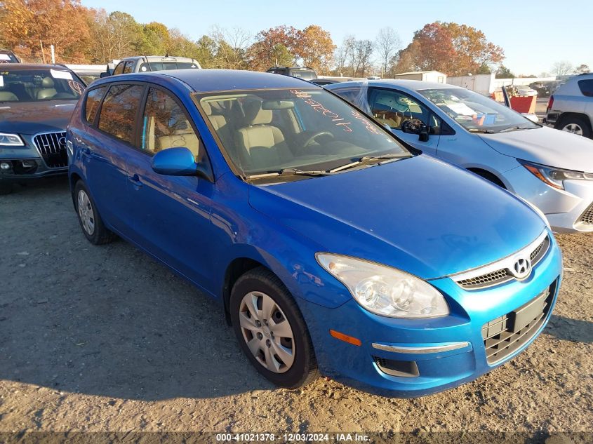
<path fill-rule="evenodd" d="M 365 156 L 410 156 L 377 123 L 326 90 L 245 90 L 199 99 L 245 175 L 286 168 L 327 171 Z"/>

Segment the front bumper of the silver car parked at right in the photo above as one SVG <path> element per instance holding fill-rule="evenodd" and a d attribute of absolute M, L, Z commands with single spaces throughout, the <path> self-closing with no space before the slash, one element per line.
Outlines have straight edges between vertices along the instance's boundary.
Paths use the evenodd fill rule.
<path fill-rule="evenodd" d="M 592 180 L 565 180 L 564 189 L 549 187 L 523 166 L 505 173 L 510 191 L 533 203 L 557 233 L 593 232 L 584 217 L 593 206 Z"/>

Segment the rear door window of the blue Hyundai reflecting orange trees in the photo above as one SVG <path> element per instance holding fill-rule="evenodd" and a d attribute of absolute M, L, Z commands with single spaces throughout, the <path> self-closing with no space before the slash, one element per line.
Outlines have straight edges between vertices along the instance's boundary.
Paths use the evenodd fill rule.
<path fill-rule="evenodd" d="M 144 86 L 112 85 L 103 100 L 99 129 L 129 144 L 134 143 L 134 128 Z"/>

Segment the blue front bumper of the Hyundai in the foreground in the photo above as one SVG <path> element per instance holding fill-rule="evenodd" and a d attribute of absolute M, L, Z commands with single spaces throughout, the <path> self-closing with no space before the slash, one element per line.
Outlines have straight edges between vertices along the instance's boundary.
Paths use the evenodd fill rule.
<path fill-rule="evenodd" d="M 300 307 L 324 375 L 381 396 L 411 398 L 472 381 L 526 349 L 549 320 L 561 270 L 561 255 L 553 241 L 526 281 L 473 291 L 463 290 L 451 278 L 431 281 L 447 296 L 451 310 L 449 316 L 434 319 L 377 316 L 353 299 L 335 309 L 302 301 Z M 484 326 L 512 316 L 546 289 L 550 293 L 545 316 L 529 337 L 502 358 L 488 359 L 487 352 L 492 353 L 485 345 Z M 335 339 L 329 330 L 360 339 L 361 346 Z M 488 330 L 484 335 L 488 336 Z"/>

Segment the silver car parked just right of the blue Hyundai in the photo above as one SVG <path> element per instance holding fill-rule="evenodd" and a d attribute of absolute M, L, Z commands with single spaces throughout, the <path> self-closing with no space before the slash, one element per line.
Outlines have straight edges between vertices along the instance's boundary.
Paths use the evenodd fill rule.
<path fill-rule="evenodd" d="M 593 140 L 444 83 L 380 80 L 325 88 L 422 152 L 517 194 L 545 213 L 554 231 L 593 232 Z"/>

